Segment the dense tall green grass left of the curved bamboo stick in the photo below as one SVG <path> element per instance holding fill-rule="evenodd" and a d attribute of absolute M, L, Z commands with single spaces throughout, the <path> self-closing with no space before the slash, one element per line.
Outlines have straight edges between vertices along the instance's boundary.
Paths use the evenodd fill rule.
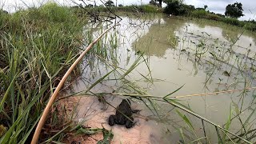
<path fill-rule="evenodd" d="M 0 143 L 26 143 L 54 86 L 77 56 L 82 22 L 55 3 L 0 18 Z"/>

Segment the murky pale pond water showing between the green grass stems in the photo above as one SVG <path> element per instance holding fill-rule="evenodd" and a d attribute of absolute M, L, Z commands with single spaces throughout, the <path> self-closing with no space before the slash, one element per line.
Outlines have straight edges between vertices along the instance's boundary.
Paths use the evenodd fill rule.
<path fill-rule="evenodd" d="M 94 28 L 91 29 L 92 27 Z M 97 26 L 86 26 L 85 30 L 94 30 L 94 34 L 100 32 Z M 255 59 L 256 37 L 255 34 L 236 27 L 217 22 L 182 20 L 164 16 L 140 19 L 123 17 L 121 26 L 111 31 L 106 39 L 113 39 L 113 36 L 117 37 L 118 46 L 114 50 L 110 49 L 114 46 L 113 43 L 106 46 L 110 50 L 108 54 L 112 55 L 108 59 L 110 63 L 127 70 L 138 58 L 138 53 L 143 52 L 144 57 L 148 58 L 150 72 L 147 65 L 142 63 L 127 77 L 141 86 L 147 94 L 163 96 L 182 85 L 184 85 L 182 89 L 170 97 L 255 86 L 253 59 Z M 110 71 L 104 62 L 96 62 L 92 59 L 83 62 L 84 72 L 81 80 L 74 87 L 74 92 L 86 90 L 91 83 Z M 146 81 L 142 75 L 147 78 L 151 75 L 154 83 Z M 111 75 L 102 84 L 95 86 L 92 89 L 93 93 L 118 91 L 118 93 L 132 94 L 129 90 L 118 90 L 122 82 L 113 80 L 115 76 Z M 254 99 L 253 95 L 254 90 L 247 90 L 244 93 L 236 91 L 175 99 L 190 107 L 195 113 L 222 126 L 227 122 L 230 110 L 231 118 L 242 112 L 240 116 L 245 122 L 255 109 L 255 105 L 250 106 Z M 105 98 L 111 105 L 118 106 L 122 97 L 106 95 Z M 248 106 L 250 108 L 246 109 Z M 176 111 L 178 109 L 163 102 L 158 102 L 157 107 L 161 120 L 142 102 L 134 100 L 132 108 L 142 111 L 134 114 L 136 125 L 127 130 L 124 126 L 108 126 L 107 118 L 110 114 L 114 114 L 113 107 L 98 102 L 98 98 L 83 97 L 79 102 L 77 120 L 86 120 L 86 126 L 104 126 L 112 130 L 114 143 L 178 143 L 182 139 L 181 132 L 190 137 L 185 138 L 186 142 L 204 137 L 200 119 L 179 110 L 190 118 L 194 126 L 194 132 L 190 133 L 189 126 L 186 126 L 178 116 Z M 255 115 L 251 114 L 250 122 L 256 118 Z M 234 119 L 230 131 L 237 132 L 240 128 L 238 119 Z M 207 141 L 218 142 L 214 126 L 207 123 L 206 136 Z"/>

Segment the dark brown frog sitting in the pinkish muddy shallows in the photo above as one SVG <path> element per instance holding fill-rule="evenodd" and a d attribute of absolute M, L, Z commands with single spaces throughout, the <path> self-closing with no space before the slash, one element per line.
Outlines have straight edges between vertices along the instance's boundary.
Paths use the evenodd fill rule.
<path fill-rule="evenodd" d="M 114 126 L 114 124 L 125 125 L 127 129 L 134 126 L 133 113 L 138 113 L 140 110 L 132 110 L 130 107 L 129 99 L 122 99 L 122 102 L 116 108 L 116 113 L 110 115 L 109 125 Z"/>

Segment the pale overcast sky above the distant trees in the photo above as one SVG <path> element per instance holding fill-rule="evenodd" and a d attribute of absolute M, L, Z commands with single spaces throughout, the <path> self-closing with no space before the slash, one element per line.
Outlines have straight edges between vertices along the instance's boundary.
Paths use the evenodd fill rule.
<path fill-rule="evenodd" d="M 26 5 L 36 5 L 40 3 L 47 2 L 48 0 L 0 0 L 0 6 L 4 6 L 4 9 L 7 11 L 14 11 L 14 6 L 24 6 Z M 94 0 L 90 0 L 93 1 Z M 101 1 L 106 0 L 95 0 L 97 4 L 101 4 Z M 81 3 L 79 0 L 54 0 L 54 2 L 58 2 L 60 4 L 69 4 L 71 5 L 74 2 Z M 85 2 L 89 2 L 85 0 Z M 116 2 L 116 0 L 113 0 Z M 122 4 L 124 6 L 130 4 L 147 4 L 150 0 L 117 0 L 118 4 Z M 214 13 L 224 14 L 226 6 L 230 3 L 241 2 L 243 7 L 244 17 L 240 18 L 241 20 L 256 19 L 256 1 L 255 0 L 184 0 L 186 4 L 193 5 L 195 7 L 203 7 L 207 5 L 207 10 L 213 11 Z"/>

